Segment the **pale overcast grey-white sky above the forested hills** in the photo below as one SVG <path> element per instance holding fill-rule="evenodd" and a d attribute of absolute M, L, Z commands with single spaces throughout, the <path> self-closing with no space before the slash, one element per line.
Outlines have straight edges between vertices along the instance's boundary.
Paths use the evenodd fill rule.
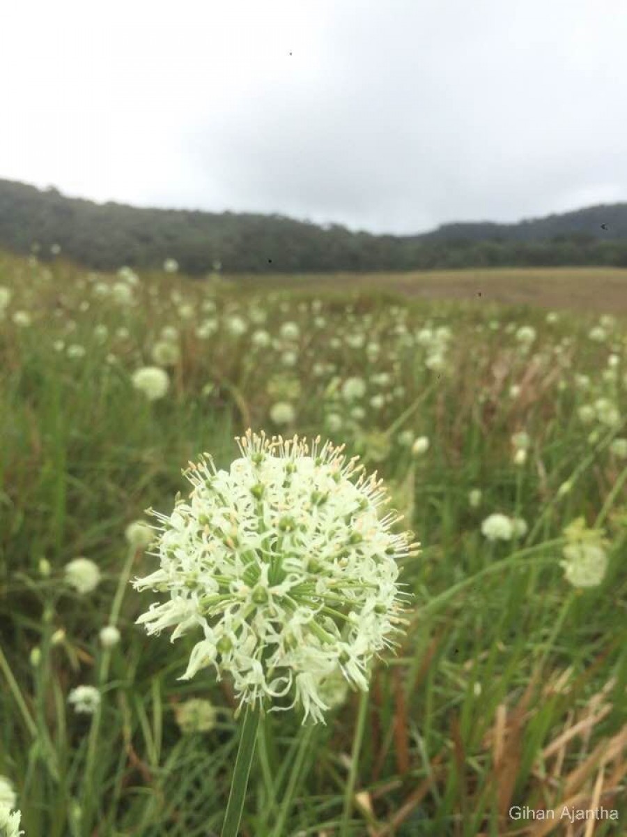
<path fill-rule="evenodd" d="M 0 177 L 396 233 L 627 200 L 625 0 L 13 6 Z"/>

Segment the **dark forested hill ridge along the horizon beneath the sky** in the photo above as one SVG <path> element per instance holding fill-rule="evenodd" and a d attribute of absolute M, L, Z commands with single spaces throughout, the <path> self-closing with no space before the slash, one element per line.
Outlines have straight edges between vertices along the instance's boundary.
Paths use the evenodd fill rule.
<path fill-rule="evenodd" d="M 201 275 L 227 273 L 425 270 L 481 266 L 627 266 L 627 203 L 514 224 L 448 223 L 417 235 L 375 235 L 281 215 L 145 209 L 65 198 L 0 180 L 0 247 L 49 257 L 59 244 L 96 270 L 161 267 L 176 259 Z"/>

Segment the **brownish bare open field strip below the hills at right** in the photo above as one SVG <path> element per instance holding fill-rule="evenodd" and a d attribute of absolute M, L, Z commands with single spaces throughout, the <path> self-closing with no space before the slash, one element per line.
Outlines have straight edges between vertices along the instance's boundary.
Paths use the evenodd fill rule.
<path fill-rule="evenodd" d="M 485 268 L 316 274 L 297 278 L 298 284 L 321 290 L 389 290 L 424 300 L 468 300 L 627 314 L 627 269 L 624 268 Z M 241 283 L 238 278 L 234 281 Z M 293 287 L 294 284 L 292 278 L 284 276 L 245 280 L 249 287 L 262 282 L 282 288 Z"/>

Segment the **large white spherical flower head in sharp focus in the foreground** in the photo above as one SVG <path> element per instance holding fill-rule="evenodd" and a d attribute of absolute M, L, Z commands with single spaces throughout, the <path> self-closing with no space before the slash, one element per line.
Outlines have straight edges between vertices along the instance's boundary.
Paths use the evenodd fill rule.
<path fill-rule="evenodd" d="M 213 665 L 240 705 L 298 703 L 324 721 L 322 682 L 339 667 L 367 690 L 373 657 L 394 644 L 397 559 L 417 545 L 390 531 L 398 518 L 379 515 L 380 480 L 342 448 L 251 431 L 237 443 L 229 470 L 206 456 L 186 471 L 188 501 L 153 512 L 161 566 L 133 585 L 169 595 L 138 622 L 149 634 L 175 627 L 172 640 L 201 629 L 181 679 Z"/>

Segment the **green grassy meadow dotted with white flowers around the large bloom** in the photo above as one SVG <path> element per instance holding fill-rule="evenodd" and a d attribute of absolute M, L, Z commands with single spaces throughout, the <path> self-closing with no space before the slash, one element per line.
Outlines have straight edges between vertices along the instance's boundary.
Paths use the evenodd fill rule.
<path fill-rule="evenodd" d="M 507 297 L 473 271 L 446 300 L 399 277 L 0 256 L 0 777 L 26 837 L 220 834 L 232 684 L 178 680 L 193 632 L 135 624 L 155 595 L 130 579 L 157 562 L 128 527 L 171 513 L 203 451 L 228 467 L 247 428 L 345 444 L 421 552 L 366 696 L 344 690 L 326 724 L 263 718 L 241 833 L 627 833 L 627 323 L 603 292 L 627 311 L 625 271 L 563 273 L 561 296 L 550 270 L 526 293 L 532 273 Z M 142 367 L 165 370 L 161 397 Z M 600 563 L 568 570 L 573 544 Z M 77 557 L 101 574 L 84 592 Z"/>

